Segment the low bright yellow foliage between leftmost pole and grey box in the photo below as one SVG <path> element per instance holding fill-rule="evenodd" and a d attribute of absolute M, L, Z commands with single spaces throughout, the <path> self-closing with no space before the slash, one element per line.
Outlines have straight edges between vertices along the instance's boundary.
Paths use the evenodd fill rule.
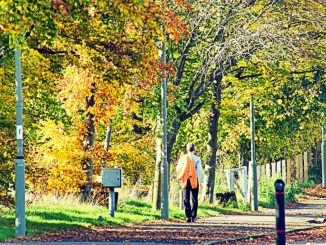
<path fill-rule="evenodd" d="M 34 191 L 42 193 L 78 191 L 85 181 L 78 135 L 73 131 L 67 132 L 62 124 L 57 125 L 53 121 L 44 121 L 40 125 L 40 142 L 29 149 L 27 169 L 30 174 L 27 182 Z"/>

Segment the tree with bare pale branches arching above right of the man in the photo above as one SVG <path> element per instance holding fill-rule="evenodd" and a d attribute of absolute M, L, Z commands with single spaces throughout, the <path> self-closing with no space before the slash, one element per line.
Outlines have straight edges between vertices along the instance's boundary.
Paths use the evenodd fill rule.
<path fill-rule="evenodd" d="M 321 45 L 322 6 L 316 1 L 310 3 L 309 7 L 294 1 L 192 3 L 193 10 L 184 14 L 191 35 L 182 40 L 182 45 L 172 46 L 169 50 L 176 69 L 176 78 L 172 83 L 177 87 L 177 99 L 169 111 L 169 162 L 181 124 L 209 101 L 209 88 L 212 94 L 218 95 L 211 100 L 213 105 L 221 103 L 223 88 L 228 86 L 223 85 L 223 77 L 239 67 L 241 60 L 254 62 L 257 66 L 273 64 L 276 68 L 277 62 L 281 60 L 293 61 L 294 56 L 290 54 L 300 59 L 303 58 L 303 50 L 309 55 L 314 54 L 309 52 L 309 47 L 317 43 Z M 241 81 L 249 83 L 248 79 Z M 212 118 L 217 120 L 218 108 L 214 107 L 211 113 Z M 216 162 L 216 147 L 212 144 L 217 141 L 215 128 L 218 121 L 215 119 L 211 120 L 212 140 L 208 145 L 206 162 L 206 175 L 209 178 L 205 184 L 205 193 L 210 201 L 213 197 Z"/>

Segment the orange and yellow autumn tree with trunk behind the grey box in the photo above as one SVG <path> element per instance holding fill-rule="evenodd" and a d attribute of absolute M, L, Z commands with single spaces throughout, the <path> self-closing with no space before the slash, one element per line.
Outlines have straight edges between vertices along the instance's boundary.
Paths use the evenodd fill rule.
<path fill-rule="evenodd" d="M 127 101 L 156 82 L 160 9 L 151 1 L 3 3 L 2 17 L 12 22 L 2 26 L 9 40 L 2 50 L 12 50 L 9 44 L 21 40 L 22 30 L 35 23 L 27 45 L 51 61 L 49 70 L 55 76 L 47 82 L 56 85 L 71 119 L 64 130 L 79 132 L 75 147 L 84 152 L 85 196 L 92 186 L 94 154 L 99 155 L 94 151 L 96 129 L 107 124 L 116 103 L 126 102 L 128 111 Z"/>

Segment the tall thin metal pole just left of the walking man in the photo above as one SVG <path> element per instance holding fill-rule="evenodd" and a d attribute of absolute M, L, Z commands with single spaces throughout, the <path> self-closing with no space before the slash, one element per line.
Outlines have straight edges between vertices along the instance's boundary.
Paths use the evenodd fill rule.
<path fill-rule="evenodd" d="M 162 62 L 166 63 L 165 44 L 162 42 Z M 166 71 L 162 74 L 162 116 L 163 116 L 163 164 L 162 164 L 162 219 L 169 218 L 169 170 L 167 161 L 167 132 L 166 132 Z"/>

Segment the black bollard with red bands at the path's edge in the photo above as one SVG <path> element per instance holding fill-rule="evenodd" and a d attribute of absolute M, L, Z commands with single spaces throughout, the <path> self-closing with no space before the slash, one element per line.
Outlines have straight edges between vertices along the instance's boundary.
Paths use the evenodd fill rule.
<path fill-rule="evenodd" d="M 283 180 L 275 181 L 275 199 L 276 199 L 276 244 L 285 245 L 285 206 L 284 206 L 284 187 Z"/>

